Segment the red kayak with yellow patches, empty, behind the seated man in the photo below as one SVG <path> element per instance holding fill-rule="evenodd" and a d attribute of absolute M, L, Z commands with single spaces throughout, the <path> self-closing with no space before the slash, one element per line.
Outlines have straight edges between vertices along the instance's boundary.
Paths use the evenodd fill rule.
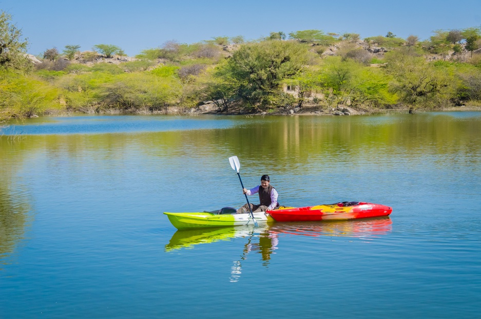
<path fill-rule="evenodd" d="M 347 220 L 389 216 L 392 207 L 362 201 L 343 201 L 330 205 L 309 207 L 280 207 L 267 211 L 276 221 L 315 221 L 315 220 Z"/>

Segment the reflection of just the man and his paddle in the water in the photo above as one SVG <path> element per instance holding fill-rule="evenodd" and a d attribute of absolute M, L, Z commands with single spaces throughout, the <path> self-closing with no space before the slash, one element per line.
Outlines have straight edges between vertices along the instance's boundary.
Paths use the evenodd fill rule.
<path fill-rule="evenodd" d="M 277 245 L 279 243 L 277 232 L 265 229 L 259 234 L 259 243 L 253 243 L 252 237 L 254 237 L 254 231 L 251 232 L 247 243 L 244 245 L 244 249 L 239 260 L 234 260 L 234 265 L 230 268 L 231 283 L 237 283 L 242 274 L 242 261 L 247 259 L 247 254 L 250 252 L 257 252 L 261 254 L 263 260 L 262 266 L 268 267 L 271 260 L 271 254 L 275 254 Z"/>

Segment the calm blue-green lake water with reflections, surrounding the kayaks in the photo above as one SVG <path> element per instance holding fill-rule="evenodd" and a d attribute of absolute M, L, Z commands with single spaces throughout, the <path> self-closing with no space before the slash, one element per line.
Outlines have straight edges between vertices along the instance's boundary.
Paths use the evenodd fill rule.
<path fill-rule="evenodd" d="M 480 318 L 481 113 L 92 116 L 0 132 L 1 318 Z M 164 211 L 390 205 L 176 231 Z M 253 198 L 255 201 L 255 198 Z"/>

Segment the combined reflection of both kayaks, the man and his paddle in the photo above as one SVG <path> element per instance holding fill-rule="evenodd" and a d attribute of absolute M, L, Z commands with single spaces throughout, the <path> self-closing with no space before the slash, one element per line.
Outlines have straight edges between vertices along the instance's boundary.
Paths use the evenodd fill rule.
<path fill-rule="evenodd" d="M 326 222 L 295 222 L 275 223 L 263 225 L 259 228 L 252 226 L 232 228 L 211 228 L 178 230 L 165 245 L 165 251 L 171 252 L 181 249 L 193 249 L 202 243 L 214 243 L 233 238 L 244 238 L 239 259 L 233 261 L 230 267 L 229 281 L 236 283 L 242 274 L 242 263 L 248 255 L 260 254 L 262 266 L 268 267 L 273 254 L 279 248 L 279 238 L 284 235 L 299 236 L 339 236 L 372 240 L 380 235 L 386 235 L 392 230 L 392 220 L 389 217 L 369 218 L 349 221 Z M 283 238 L 282 240 L 289 240 Z"/>

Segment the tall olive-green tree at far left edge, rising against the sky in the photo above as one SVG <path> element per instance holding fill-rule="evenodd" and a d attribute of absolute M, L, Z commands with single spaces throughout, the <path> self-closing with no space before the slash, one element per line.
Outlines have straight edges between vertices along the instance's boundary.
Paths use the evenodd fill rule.
<path fill-rule="evenodd" d="M 22 30 L 10 23 L 12 16 L 0 11 L 0 67 L 25 69 L 31 63 L 26 57 L 27 39 L 22 40 Z"/>

